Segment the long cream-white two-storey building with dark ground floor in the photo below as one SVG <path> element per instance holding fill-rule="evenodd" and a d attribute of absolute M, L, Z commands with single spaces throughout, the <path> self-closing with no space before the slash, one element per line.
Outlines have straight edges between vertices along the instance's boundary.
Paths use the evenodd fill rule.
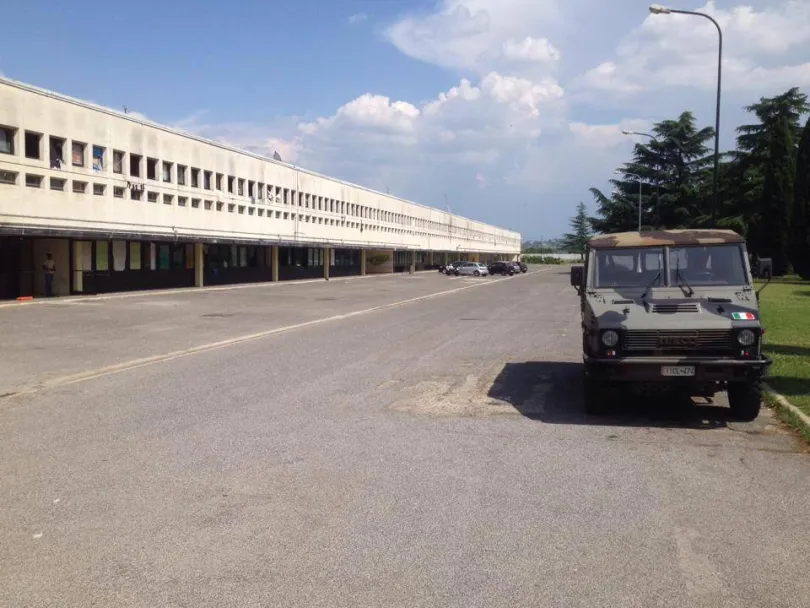
<path fill-rule="evenodd" d="M 517 232 L 0 78 L 0 298 L 512 259 Z"/>

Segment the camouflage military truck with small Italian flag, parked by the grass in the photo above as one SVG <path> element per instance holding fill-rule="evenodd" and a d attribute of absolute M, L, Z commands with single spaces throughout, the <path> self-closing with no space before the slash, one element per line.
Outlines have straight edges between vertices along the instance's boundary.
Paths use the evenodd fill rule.
<path fill-rule="evenodd" d="M 759 317 L 745 240 L 730 230 L 662 230 L 592 238 L 571 269 L 582 310 L 585 406 L 602 414 L 627 391 L 712 398 L 732 415 L 761 405 Z"/>

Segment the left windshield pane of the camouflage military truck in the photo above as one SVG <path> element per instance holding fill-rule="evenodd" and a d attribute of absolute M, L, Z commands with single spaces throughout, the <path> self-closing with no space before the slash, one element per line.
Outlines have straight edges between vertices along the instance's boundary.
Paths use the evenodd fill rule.
<path fill-rule="evenodd" d="M 597 288 L 654 287 L 663 284 L 664 250 L 603 249 L 595 252 Z"/>

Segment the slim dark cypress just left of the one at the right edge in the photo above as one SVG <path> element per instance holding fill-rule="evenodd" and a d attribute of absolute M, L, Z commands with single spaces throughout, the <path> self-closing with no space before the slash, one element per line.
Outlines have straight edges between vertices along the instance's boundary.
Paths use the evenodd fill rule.
<path fill-rule="evenodd" d="M 783 117 L 770 133 L 768 142 L 757 250 L 760 257 L 773 258 L 775 276 L 784 275 L 790 266 L 790 218 L 796 175 L 794 149 L 790 122 Z"/>

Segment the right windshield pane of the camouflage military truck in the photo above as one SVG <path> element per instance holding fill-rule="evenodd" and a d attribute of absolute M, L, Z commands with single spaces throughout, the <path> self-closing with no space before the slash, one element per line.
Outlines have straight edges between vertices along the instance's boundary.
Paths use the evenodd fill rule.
<path fill-rule="evenodd" d="M 739 245 L 672 247 L 669 250 L 671 285 L 747 284 L 742 251 Z"/>

